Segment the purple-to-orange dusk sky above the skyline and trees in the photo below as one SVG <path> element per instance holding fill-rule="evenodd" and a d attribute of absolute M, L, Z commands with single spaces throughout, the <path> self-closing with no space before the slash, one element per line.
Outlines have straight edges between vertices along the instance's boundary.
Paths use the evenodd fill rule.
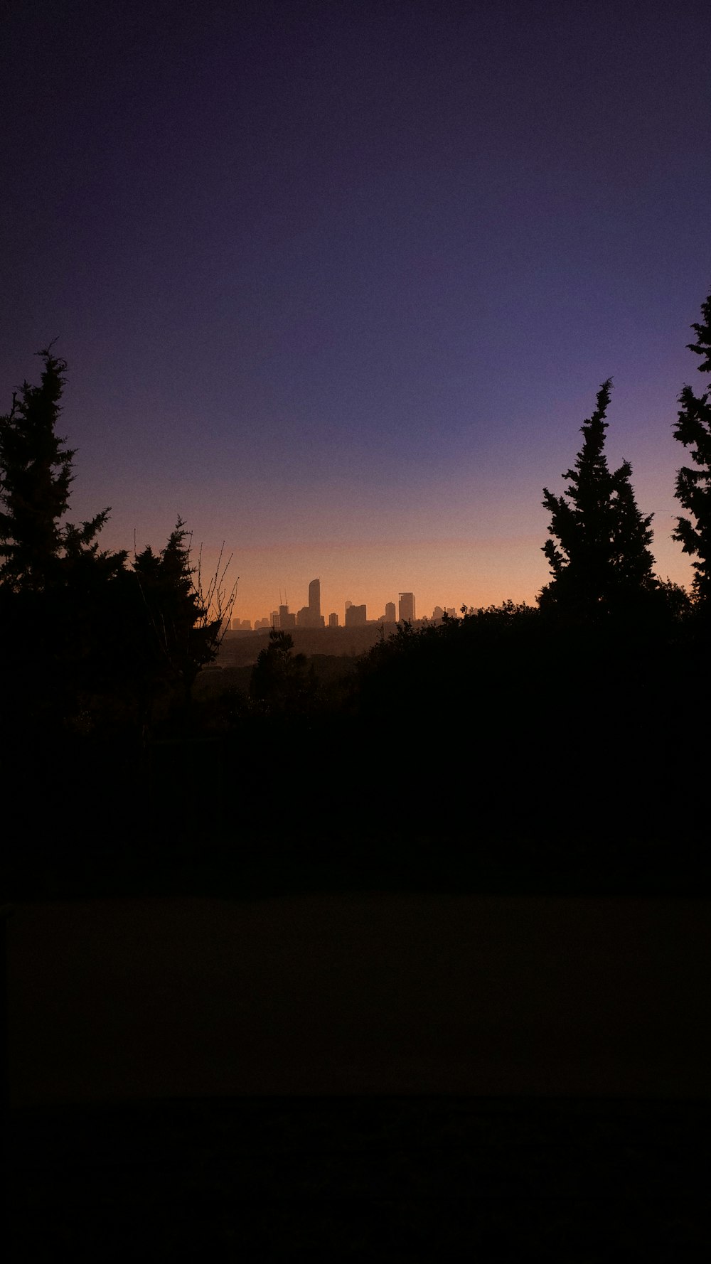
<path fill-rule="evenodd" d="M 70 517 L 180 513 L 234 613 L 548 579 L 600 384 L 669 536 L 711 291 L 711 8 L 6 0 L 0 411 L 53 339 Z"/>

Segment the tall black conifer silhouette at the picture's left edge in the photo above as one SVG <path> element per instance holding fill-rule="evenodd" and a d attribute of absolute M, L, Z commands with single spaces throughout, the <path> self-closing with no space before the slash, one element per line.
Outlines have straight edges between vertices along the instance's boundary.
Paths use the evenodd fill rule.
<path fill-rule="evenodd" d="M 109 509 L 65 518 L 75 449 L 57 435 L 66 362 L 47 348 L 39 386 L 0 418 L 0 655 L 15 731 L 72 724 L 106 681 L 102 617 L 125 552 L 101 552 Z"/>

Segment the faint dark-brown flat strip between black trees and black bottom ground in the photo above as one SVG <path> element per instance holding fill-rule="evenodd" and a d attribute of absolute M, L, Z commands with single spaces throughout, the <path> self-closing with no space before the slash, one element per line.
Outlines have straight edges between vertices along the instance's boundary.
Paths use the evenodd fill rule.
<path fill-rule="evenodd" d="M 424 892 L 18 905 L 11 1103 L 710 1098 L 708 911 Z"/>

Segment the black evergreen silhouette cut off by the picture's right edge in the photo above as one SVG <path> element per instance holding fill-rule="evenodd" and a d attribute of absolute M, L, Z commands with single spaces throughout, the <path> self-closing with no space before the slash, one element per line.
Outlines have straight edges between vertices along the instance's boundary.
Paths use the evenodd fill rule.
<path fill-rule="evenodd" d="M 702 322 L 692 325 L 696 343 L 688 343 L 689 351 L 702 358 L 700 373 L 711 373 L 711 295 L 701 307 Z M 691 459 L 697 466 L 683 465 L 677 473 L 676 494 L 691 518 L 677 518 L 673 538 L 684 552 L 696 560 L 693 592 L 707 608 L 711 603 L 711 402 L 708 391 L 695 394 L 686 386 L 679 396 L 681 410 L 674 426 L 674 439 L 691 447 Z"/>

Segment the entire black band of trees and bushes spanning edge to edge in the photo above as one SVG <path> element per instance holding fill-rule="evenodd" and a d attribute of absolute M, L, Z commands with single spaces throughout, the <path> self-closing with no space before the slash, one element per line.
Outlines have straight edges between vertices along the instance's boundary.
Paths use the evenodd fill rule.
<path fill-rule="evenodd" d="M 708 374 L 711 296 L 693 330 Z M 82 854 L 118 854 L 130 834 L 163 858 L 209 844 L 224 860 L 238 837 L 281 848 L 282 862 L 369 847 L 412 865 L 433 843 L 452 853 L 496 839 L 534 868 L 545 849 L 576 848 L 607 866 L 624 852 L 644 868 L 655 847 L 665 865 L 669 848 L 697 865 L 711 753 L 708 392 L 683 388 L 674 427 L 692 461 L 677 475 L 674 531 L 691 592 L 654 574 L 629 461 L 609 469 L 607 380 L 564 492 L 544 489 L 550 579 L 535 607 L 401 624 L 328 688 L 272 632 L 248 691 L 216 688 L 229 672 L 196 690 L 234 599 L 225 569 L 204 589 L 182 520 L 133 559 L 101 550 L 108 509 L 66 522 L 66 365 L 40 355 L 39 384 L 0 418 L 5 769 L 28 805 L 18 846 L 42 838 L 46 856 L 63 817 Z"/>

